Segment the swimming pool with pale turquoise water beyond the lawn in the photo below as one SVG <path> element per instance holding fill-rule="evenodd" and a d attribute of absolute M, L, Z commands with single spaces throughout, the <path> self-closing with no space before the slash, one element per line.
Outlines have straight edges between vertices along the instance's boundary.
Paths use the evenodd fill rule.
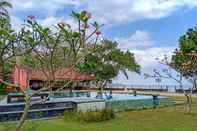
<path fill-rule="evenodd" d="M 123 93 L 97 93 L 97 92 L 73 92 L 73 93 L 55 93 L 52 98 L 70 98 L 70 97 L 85 97 L 104 99 L 106 107 L 112 108 L 116 111 L 131 110 L 131 109 L 145 109 L 156 106 L 169 106 L 174 102 L 169 97 L 158 96 L 156 100 L 151 95 L 134 95 Z"/>

